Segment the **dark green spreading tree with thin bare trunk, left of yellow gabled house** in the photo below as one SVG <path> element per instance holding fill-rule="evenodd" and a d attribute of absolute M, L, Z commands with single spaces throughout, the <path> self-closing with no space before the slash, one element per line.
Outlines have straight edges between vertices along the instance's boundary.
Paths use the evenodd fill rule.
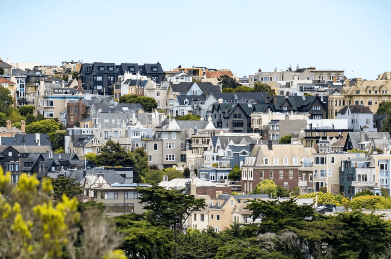
<path fill-rule="evenodd" d="M 187 218 L 195 211 L 204 209 L 204 199 L 196 199 L 194 195 L 185 195 L 180 190 L 166 190 L 156 184 L 150 188 L 137 188 L 141 194 L 140 204 L 145 204 L 148 210 L 145 215 L 152 225 L 165 227 L 174 226 L 174 241 L 178 244 L 178 229 L 180 230 Z M 178 228 L 177 228 L 178 227 Z M 177 255 L 177 246 L 174 249 L 174 259 Z"/>

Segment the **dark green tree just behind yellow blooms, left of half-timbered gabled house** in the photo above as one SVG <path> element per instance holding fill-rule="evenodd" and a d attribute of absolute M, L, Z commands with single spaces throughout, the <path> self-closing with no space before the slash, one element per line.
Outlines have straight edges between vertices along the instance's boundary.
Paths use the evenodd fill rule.
<path fill-rule="evenodd" d="M 52 179 L 53 197 L 59 201 L 65 194 L 68 198 L 79 198 L 83 193 L 83 186 L 75 183 L 74 178 L 66 178 L 65 175 L 58 175 L 57 178 Z"/>

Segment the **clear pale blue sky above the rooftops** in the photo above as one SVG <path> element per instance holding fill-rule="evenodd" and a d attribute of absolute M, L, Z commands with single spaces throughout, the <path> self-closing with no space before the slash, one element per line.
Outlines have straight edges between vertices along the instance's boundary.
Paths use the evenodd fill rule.
<path fill-rule="evenodd" d="M 0 57 L 262 71 L 390 71 L 391 0 L 0 0 Z"/>

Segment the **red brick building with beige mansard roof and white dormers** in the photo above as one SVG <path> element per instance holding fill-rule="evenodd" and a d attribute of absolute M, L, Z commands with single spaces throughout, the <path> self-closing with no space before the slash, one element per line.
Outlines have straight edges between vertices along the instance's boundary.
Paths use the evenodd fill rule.
<path fill-rule="evenodd" d="M 312 174 L 312 167 L 307 167 L 308 159 L 316 153 L 312 147 L 292 144 L 256 144 L 244 164 L 242 164 L 242 191 L 251 193 L 264 179 L 273 180 L 284 189 L 293 190 L 299 186 L 308 187 L 305 174 Z M 312 164 L 311 164 L 312 165 Z M 308 179 L 310 180 L 310 179 Z M 308 184 L 308 185 L 307 185 Z"/>

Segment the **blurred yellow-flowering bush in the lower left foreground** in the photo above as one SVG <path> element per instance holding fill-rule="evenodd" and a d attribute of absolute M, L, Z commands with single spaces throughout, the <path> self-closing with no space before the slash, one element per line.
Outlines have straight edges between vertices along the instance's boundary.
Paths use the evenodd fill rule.
<path fill-rule="evenodd" d="M 0 189 L 6 196 L 0 201 L 0 257 L 59 259 L 62 254 L 68 254 L 70 258 L 80 259 L 126 258 L 122 251 L 112 251 L 118 246 L 114 229 L 102 231 L 102 226 L 108 229 L 109 224 L 89 211 L 79 213 L 76 198 L 63 195 L 61 201 L 53 204 L 50 179 L 43 179 L 41 192 L 37 188 L 38 179 L 25 173 L 20 175 L 17 186 L 10 186 L 10 182 L 11 174 L 4 175 L 0 168 Z M 99 235 L 94 231 L 104 239 L 98 239 Z M 78 234 L 79 240 L 84 240 L 80 249 L 75 247 Z"/>

